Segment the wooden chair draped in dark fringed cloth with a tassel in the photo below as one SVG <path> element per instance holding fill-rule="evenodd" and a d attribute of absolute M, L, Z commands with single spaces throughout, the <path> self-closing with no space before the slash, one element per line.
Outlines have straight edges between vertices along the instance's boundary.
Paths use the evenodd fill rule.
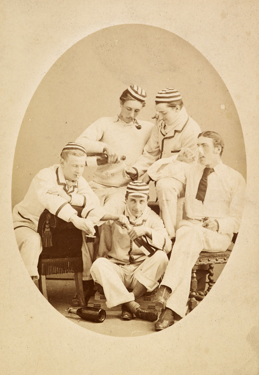
<path fill-rule="evenodd" d="M 83 207 L 73 206 L 81 216 Z M 46 275 L 74 273 L 76 293 L 80 306 L 85 306 L 82 283 L 82 232 L 73 223 L 65 222 L 44 210 L 40 215 L 37 232 L 42 239 L 42 253 L 39 257 L 39 290 L 48 300 Z"/>

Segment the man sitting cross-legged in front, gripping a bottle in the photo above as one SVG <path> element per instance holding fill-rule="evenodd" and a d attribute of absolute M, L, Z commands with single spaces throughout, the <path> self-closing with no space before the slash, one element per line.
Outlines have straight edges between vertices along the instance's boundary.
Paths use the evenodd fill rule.
<path fill-rule="evenodd" d="M 118 202 L 115 211 L 128 217 L 129 229 L 110 223 L 111 251 L 107 258 L 98 258 L 90 272 L 94 281 L 103 287 L 107 307 L 122 304 L 122 319 L 131 320 L 135 314 L 143 320 L 155 321 L 157 311 L 141 309 L 135 299 L 159 285 L 158 280 L 168 264 L 166 254 L 171 251 L 172 243 L 162 219 L 147 206 L 149 187 L 146 183 L 130 182 L 125 198 L 126 205 Z M 144 236 L 156 250 L 152 256 L 144 247 L 138 248 L 134 243 L 140 236 Z"/>

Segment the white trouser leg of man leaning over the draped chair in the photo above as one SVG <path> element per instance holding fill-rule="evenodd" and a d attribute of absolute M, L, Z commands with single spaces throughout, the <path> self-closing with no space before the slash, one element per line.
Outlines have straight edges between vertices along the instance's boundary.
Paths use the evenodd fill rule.
<path fill-rule="evenodd" d="M 14 233 L 19 252 L 29 275 L 34 276 L 34 279 L 38 280 L 37 265 L 40 253 L 42 252 L 42 241 L 39 233 L 26 226 L 16 228 Z"/>

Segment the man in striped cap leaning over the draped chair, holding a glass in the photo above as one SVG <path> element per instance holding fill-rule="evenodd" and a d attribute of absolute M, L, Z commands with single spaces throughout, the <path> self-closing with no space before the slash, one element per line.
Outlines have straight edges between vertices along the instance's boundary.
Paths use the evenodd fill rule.
<path fill-rule="evenodd" d="M 13 208 L 16 242 L 25 267 L 34 280 L 39 279 L 37 264 L 42 252 L 37 226 L 45 208 L 66 222 L 72 222 L 82 230 L 83 237 L 85 233 L 95 233 L 94 225 L 100 225 L 100 219 L 119 220 L 120 223 L 128 221 L 126 217 L 108 214 L 100 207 L 98 197 L 82 177 L 85 162 L 85 148 L 74 142 L 68 143 L 61 152 L 60 165 L 55 164 L 37 173 L 24 199 Z M 82 217 L 77 216 L 72 205 L 84 207 Z M 83 246 L 85 241 L 82 251 Z M 83 258 L 84 270 L 91 267 L 86 263 Z"/>

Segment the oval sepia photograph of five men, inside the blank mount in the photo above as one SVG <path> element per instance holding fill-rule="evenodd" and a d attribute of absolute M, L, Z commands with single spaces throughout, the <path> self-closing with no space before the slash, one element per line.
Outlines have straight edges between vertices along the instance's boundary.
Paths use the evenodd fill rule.
<path fill-rule="evenodd" d="M 209 148 L 211 162 L 205 161 Z M 191 201 L 186 202 L 191 165 L 198 170 L 190 177 Z M 217 173 L 203 176 L 204 167 L 216 165 L 222 171 L 207 193 L 208 181 Z M 100 308 L 109 318 L 104 324 L 81 320 L 80 324 L 113 336 L 146 335 L 171 326 L 173 314 L 183 318 L 188 297 L 189 312 L 216 281 L 239 230 L 244 178 L 246 154 L 237 111 L 202 54 L 161 28 L 135 24 L 104 28 L 57 60 L 26 110 L 12 178 L 18 248 L 31 278 L 39 280 L 47 299 L 51 290 L 49 301 L 63 315 L 78 321 L 68 312 L 79 314 L 76 307 L 87 306 L 96 312 L 85 308 L 86 314 L 96 315 Z M 201 196 L 195 198 L 199 189 Z M 180 254 L 188 247 L 194 259 L 189 253 L 186 259 L 180 255 L 171 259 L 177 229 L 179 238 L 181 231 L 189 230 L 185 240 L 190 236 L 193 243 L 201 241 L 197 249 L 179 243 Z M 177 284 L 175 291 L 163 284 L 168 258 L 168 267 L 180 262 L 169 271 L 179 272 L 176 281 L 167 281 Z M 150 274 L 142 269 L 146 263 Z M 64 275 L 75 271 L 76 284 L 71 275 Z M 189 286 L 178 291 L 183 275 L 191 291 Z M 177 311 L 167 307 L 170 290 L 171 299 L 173 292 L 177 301 L 179 294 L 185 295 L 180 306 L 173 305 Z M 155 326 L 146 323 L 156 321 L 158 314 Z"/>

